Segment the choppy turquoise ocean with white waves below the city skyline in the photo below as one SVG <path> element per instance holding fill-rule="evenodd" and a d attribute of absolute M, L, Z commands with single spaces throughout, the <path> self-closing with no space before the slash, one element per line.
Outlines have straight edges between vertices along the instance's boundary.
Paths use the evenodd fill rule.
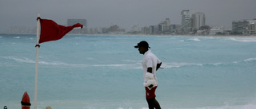
<path fill-rule="evenodd" d="M 256 37 L 66 35 L 39 48 L 38 109 L 146 109 L 143 55 L 160 60 L 162 109 L 256 109 Z M 34 108 L 35 34 L 0 34 L 0 108 Z"/>

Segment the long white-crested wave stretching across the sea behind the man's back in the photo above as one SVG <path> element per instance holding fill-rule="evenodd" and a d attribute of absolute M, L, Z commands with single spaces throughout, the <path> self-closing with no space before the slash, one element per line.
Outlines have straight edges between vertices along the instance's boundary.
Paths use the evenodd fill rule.
<path fill-rule="evenodd" d="M 18 58 L 14 56 L 6 56 L 5 59 L 15 60 L 20 63 L 34 64 L 35 60 L 23 57 Z M 187 63 L 187 62 L 163 62 L 162 66 L 166 68 L 181 68 L 186 66 L 219 66 L 226 64 L 239 64 L 242 62 L 255 61 L 256 57 L 248 58 L 240 61 L 233 62 L 216 62 L 216 63 Z M 39 60 L 38 64 L 50 65 L 50 66 L 65 66 L 65 67 L 115 67 L 115 68 L 142 68 L 141 60 L 122 60 L 123 62 L 128 62 L 129 64 L 70 64 L 61 61 L 44 61 Z"/>

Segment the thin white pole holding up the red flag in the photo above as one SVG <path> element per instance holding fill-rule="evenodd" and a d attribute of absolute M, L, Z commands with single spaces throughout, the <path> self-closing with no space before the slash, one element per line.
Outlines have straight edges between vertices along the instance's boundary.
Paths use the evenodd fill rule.
<path fill-rule="evenodd" d="M 38 14 L 38 27 L 37 27 L 37 45 L 35 46 L 37 48 L 37 54 L 35 59 L 35 76 L 34 76 L 34 109 L 37 109 L 37 97 L 38 97 L 38 48 L 39 45 L 39 25 L 40 25 L 40 14 Z"/>

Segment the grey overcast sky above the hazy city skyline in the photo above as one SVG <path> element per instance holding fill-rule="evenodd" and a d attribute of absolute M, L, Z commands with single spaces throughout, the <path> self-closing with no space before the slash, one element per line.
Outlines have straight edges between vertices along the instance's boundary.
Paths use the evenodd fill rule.
<path fill-rule="evenodd" d="M 36 18 L 66 25 L 67 19 L 86 19 L 88 27 L 119 25 L 130 29 L 158 25 L 170 18 L 181 24 L 182 10 L 206 15 L 206 25 L 231 28 L 232 21 L 256 18 L 256 0 L 0 0 L 0 32 L 10 26 L 36 27 Z"/>

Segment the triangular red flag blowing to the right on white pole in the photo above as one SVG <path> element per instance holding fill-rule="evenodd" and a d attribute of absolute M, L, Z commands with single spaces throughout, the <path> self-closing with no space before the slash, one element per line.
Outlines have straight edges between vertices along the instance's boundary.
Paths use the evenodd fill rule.
<path fill-rule="evenodd" d="M 40 18 L 39 18 L 40 19 Z M 41 35 L 39 43 L 46 41 L 56 41 L 69 33 L 74 27 L 81 27 L 82 25 L 77 23 L 71 26 L 58 25 L 56 22 L 48 19 L 40 19 L 41 23 Z"/>

